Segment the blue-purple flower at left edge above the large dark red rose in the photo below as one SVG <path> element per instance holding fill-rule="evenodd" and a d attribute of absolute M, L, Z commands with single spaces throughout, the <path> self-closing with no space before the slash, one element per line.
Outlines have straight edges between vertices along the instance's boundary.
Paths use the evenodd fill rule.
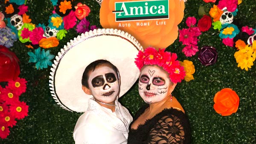
<path fill-rule="evenodd" d="M 0 28 L 0 45 L 10 48 L 16 40 L 16 35 L 9 27 Z"/>

